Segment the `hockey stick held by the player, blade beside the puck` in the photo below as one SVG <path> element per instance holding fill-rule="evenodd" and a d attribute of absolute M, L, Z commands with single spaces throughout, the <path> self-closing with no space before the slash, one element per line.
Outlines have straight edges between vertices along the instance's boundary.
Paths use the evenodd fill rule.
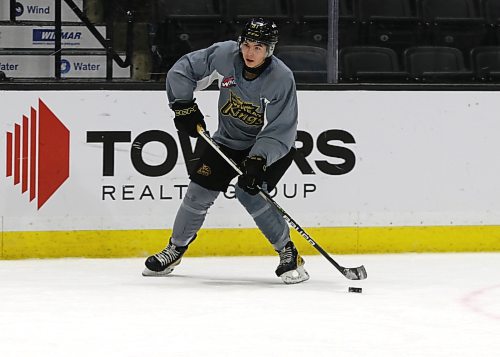
<path fill-rule="evenodd" d="M 227 157 L 220 149 L 219 145 L 210 137 L 210 135 L 203 129 L 201 125 L 197 126 L 198 134 L 215 150 L 217 153 L 229 164 L 231 167 L 238 173 L 238 175 L 243 174 L 243 172 L 240 170 L 238 165 L 231 160 L 231 158 Z M 288 214 L 286 211 L 281 208 L 281 206 L 273 200 L 273 198 L 264 191 L 263 189 L 259 188 L 259 194 L 264 197 L 269 203 L 271 203 L 277 210 L 278 212 L 283 216 L 283 218 L 290 224 L 305 240 L 307 240 L 318 252 L 321 253 L 332 265 L 337 268 L 339 272 L 341 272 L 347 279 L 350 280 L 363 280 L 366 279 L 368 276 L 366 274 L 365 267 L 363 265 L 357 267 L 357 268 L 345 268 L 341 266 L 339 263 L 337 263 L 333 258 L 323 249 L 321 246 L 316 243 L 316 241 L 309 235 L 307 234 L 306 231 L 302 229 L 302 227 L 295 222 L 295 220 Z"/>

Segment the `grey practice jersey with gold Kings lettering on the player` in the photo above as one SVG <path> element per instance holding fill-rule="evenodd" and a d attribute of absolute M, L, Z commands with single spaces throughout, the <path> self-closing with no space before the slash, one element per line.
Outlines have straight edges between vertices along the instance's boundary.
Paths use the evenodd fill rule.
<path fill-rule="evenodd" d="M 193 92 L 218 80 L 218 129 L 213 138 L 232 149 L 252 147 L 267 165 L 288 153 L 297 134 L 297 93 L 291 70 L 272 56 L 254 80 L 243 78 L 244 62 L 235 41 L 189 53 L 167 75 L 170 104 L 190 101 Z"/>

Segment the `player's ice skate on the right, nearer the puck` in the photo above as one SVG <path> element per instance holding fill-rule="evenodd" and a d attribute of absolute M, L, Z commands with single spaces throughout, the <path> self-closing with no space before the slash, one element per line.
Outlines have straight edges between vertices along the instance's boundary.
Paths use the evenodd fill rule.
<path fill-rule="evenodd" d="M 285 284 L 297 284 L 309 279 L 309 274 L 304 269 L 304 259 L 299 255 L 292 241 L 288 242 L 278 254 L 280 264 L 276 269 L 276 275 Z"/>

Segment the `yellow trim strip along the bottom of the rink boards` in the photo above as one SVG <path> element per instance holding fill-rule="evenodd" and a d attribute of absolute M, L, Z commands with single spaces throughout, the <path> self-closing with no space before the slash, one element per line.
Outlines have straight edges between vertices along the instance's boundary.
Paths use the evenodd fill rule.
<path fill-rule="evenodd" d="M 500 251 L 500 226 L 306 228 L 333 254 Z M 166 245 L 170 230 L 2 232 L 0 259 L 145 257 Z M 318 252 L 295 230 L 303 255 Z M 276 254 L 258 229 L 203 229 L 186 256 Z"/>

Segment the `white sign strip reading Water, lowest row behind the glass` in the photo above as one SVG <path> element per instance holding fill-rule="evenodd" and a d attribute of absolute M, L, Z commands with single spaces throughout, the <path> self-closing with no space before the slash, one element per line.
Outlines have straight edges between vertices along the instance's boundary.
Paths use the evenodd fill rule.
<path fill-rule="evenodd" d="M 55 58 L 49 55 L 0 55 L 0 71 L 9 78 L 53 78 Z M 64 55 L 62 78 L 106 78 L 106 55 Z M 113 61 L 113 78 L 130 78 L 130 67 Z"/>

